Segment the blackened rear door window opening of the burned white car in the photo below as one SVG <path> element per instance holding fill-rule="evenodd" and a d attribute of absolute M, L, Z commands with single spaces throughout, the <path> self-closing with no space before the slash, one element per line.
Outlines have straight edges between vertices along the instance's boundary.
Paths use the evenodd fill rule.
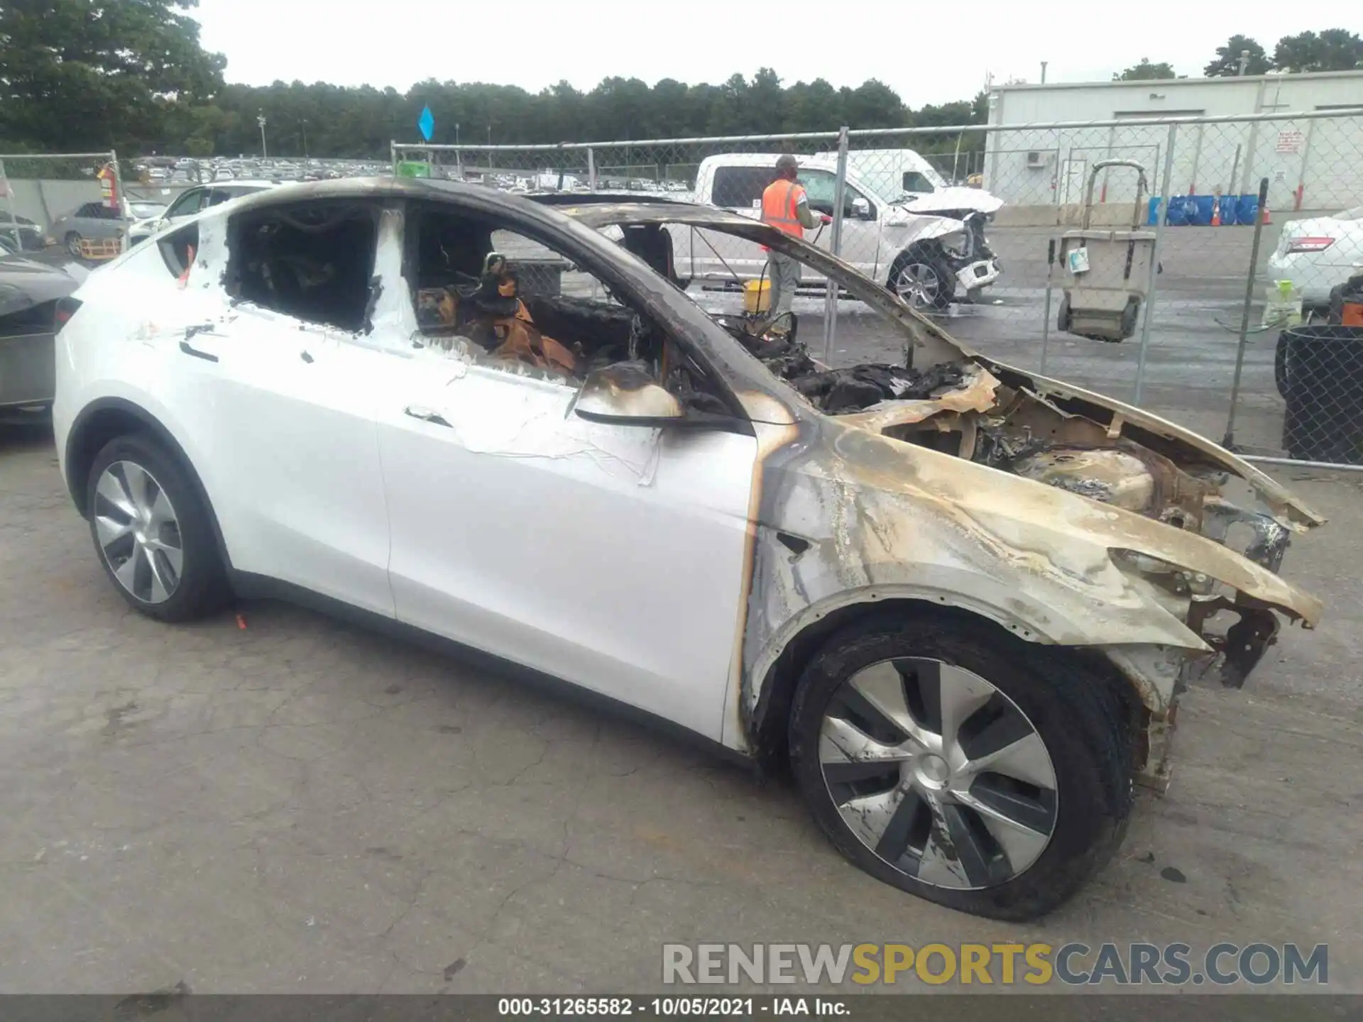
<path fill-rule="evenodd" d="M 286 316 L 367 328 L 379 207 L 357 202 L 273 206 L 228 226 L 228 293 Z"/>

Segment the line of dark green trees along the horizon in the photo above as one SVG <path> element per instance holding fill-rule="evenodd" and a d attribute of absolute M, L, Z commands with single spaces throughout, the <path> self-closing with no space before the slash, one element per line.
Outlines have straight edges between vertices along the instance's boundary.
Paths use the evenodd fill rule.
<path fill-rule="evenodd" d="M 882 82 L 834 87 L 823 79 L 784 83 L 770 68 L 722 84 L 607 78 L 582 91 L 567 82 L 537 93 L 517 86 L 427 80 L 406 91 L 371 86 L 274 82 L 229 84 L 226 59 L 209 53 L 189 16 L 198 0 L 4 0 L 0 3 L 0 146 L 71 153 L 239 155 L 260 151 L 259 117 L 271 154 L 382 158 L 388 142 L 417 140 L 429 106 L 433 142 L 555 143 L 696 135 L 791 134 L 857 128 L 981 124 L 988 97 L 909 108 Z M 1363 42 L 1343 29 L 1284 37 L 1272 59 L 1234 35 L 1208 75 L 1363 67 Z M 1116 78 L 1172 78 L 1168 64 L 1141 64 Z M 921 138 L 946 151 L 955 136 Z M 969 139 L 966 147 L 981 144 Z"/>

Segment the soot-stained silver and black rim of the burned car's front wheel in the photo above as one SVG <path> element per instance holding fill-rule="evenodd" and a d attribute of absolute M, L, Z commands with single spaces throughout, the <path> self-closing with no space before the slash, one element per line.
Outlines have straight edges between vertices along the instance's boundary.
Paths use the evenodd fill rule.
<path fill-rule="evenodd" d="M 823 711 L 819 767 L 857 839 L 932 887 L 1007 883 L 1055 833 L 1055 766 L 1036 726 L 939 660 L 897 657 L 845 680 Z"/>

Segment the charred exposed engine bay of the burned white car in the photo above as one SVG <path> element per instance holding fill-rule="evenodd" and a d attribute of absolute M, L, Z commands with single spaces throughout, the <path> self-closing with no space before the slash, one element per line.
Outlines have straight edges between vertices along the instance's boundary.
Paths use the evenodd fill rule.
<path fill-rule="evenodd" d="M 1089 497 L 1221 542 L 1277 572 L 1289 514 L 1253 508 L 1257 496 L 1212 458 L 1100 409 L 1047 394 L 1021 373 L 961 357 L 925 369 L 863 364 L 831 369 L 797 339 L 762 331 L 752 316 L 717 322 L 776 376 L 826 414 L 895 440 L 928 447 Z M 1194 456 L 1190 456 L 1194 455 Z M 1243 489 L 1244 508 L 1227 493 Z M 1240 687 L 1276 642 L 1277 616 L 1197 572 L 1139 559 L 1139 571 L 1171 610 L 1217 654 L 1199 670 Z M 1216 620 L 1221 612 L 1228 621 Z M 1194 672 L 1195 673 L 1195 672 Z"/>

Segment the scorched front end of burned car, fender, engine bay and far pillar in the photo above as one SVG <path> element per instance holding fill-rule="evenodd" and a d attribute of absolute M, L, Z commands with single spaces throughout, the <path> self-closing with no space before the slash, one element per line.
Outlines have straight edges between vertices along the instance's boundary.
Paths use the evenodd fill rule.
<path fill-rule="evenodd" d="M 1187 687 L 1239 688 L 1284 620 L 1319 619 L 1319 601 L 1277 572 L 1289 540 L 1323 519 L 1229 451 L 972 352 L 763 225 L 691 207 L 602 213 L 781 251 L 878 318 L 876 350 L 897 339 L 902 353 L 834 367 L 761 313 L 710 313 L 751 356 L 729 372 L 759 447 L 736 747 L 780 741 L 767 722 L 782 719 L 799 665 L 849 617 L 950 612 L 1124 680 L 1139 706 L 1135 775 L 1163 789 Z"/>

